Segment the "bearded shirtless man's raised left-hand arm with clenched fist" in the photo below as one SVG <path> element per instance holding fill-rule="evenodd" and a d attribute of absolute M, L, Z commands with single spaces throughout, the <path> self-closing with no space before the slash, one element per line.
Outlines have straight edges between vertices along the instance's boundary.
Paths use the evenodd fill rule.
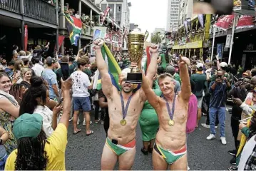
<path fill-rule="evenodd" d="M 101 53 L 103 43 L 104 42 L 101 39 L 94 41 L 94 50 L 96 52 L 97 68 L 101 73 L 101 85 L 103 93 L 106 95 L 106 98 L 111 98 L 111 95 L 113 94 L 113 84 L 111 81 L 111 76 L 108 74 L 108 66 Z"/>

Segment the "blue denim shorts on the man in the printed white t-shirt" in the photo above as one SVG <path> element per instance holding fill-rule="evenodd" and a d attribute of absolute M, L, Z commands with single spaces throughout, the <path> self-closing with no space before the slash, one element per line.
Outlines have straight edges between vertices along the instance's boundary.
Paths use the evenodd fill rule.
<path fill-rule="evenodd" d="M 83 112 L 91 111 L 90 97 L 73 97 L 73 110 L 81 110 Z"/>

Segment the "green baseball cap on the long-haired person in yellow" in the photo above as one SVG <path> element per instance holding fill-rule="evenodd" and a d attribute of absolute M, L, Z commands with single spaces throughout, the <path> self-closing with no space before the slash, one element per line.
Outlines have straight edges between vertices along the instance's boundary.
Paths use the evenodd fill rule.
<path fill-rule="evenodd" d="M 37 138 L 42 130 L 43 117 L 39 114 L 24 113 L 14 122 L 14 137 L 20 138 Z"/>

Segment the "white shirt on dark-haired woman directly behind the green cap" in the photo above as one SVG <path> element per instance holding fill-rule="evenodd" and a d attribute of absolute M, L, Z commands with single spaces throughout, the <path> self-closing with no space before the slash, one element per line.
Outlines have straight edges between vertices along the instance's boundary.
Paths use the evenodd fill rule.
<path fill-rule="evenodd" d="M 34 110 L 34 113 L 37 113 L 43 117 L 43 131 L 46 133 L 47 138 L 53 133 L 53 128 L 51 123 L 53 121 L 53 112 L 45 105 L 38 105 Z"/>

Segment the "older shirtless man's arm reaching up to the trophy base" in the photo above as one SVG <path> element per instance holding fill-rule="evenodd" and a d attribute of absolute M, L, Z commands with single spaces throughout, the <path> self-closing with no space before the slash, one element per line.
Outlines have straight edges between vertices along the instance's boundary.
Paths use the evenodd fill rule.
<path fill-rule="evenodd" d="M 148 81 L 148 78 L 145 77 L 144 73 L 143 73 L 143 83 L 142 86 L 143 91 L 145 93 L 145 96 L 148 99 L 148 103 L 150 103 L 150 105 L 153 106 L 153 108 L 155 108 L 155 110 L 157 108 L 159 108 L 159 97 L 157 95 L 155 95 L 154 91 L 152 90 L 152 88 L 150 87 L 150 83 Z"/>

